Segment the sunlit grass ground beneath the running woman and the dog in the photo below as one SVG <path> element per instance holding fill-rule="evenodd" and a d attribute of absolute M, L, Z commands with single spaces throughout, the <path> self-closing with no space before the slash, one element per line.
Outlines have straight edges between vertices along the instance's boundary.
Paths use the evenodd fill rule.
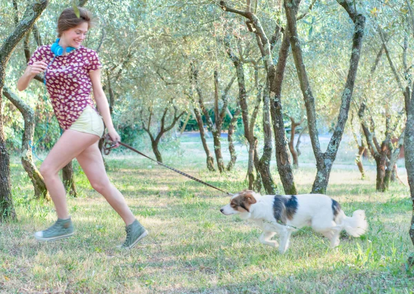
<path fill-rule="evenodd" d="M 246 188 L 244 161 L 232 173 L 210 173 L 199 144 L 181 146 L 181 155 L 164 156 L 166 164 L 224 190 Z M 243 159 L 242 146 L 239 153 Z M 351 161 L 346 156 L 342 164 Z M 13 157 L 19 219 L 0 224 L 1 293 L 413 293 L 414 270 L 406 265 L 413 253 L 408 188 L 393 184 L 386 193 L 375 192 L 372 168 L 361 180 L 353 166 L 334 167 L 327 192 L 348 215 L 366 210 L 366 235 L 344 234 L 331 250 L 326 239 L 305 228 L 279 255 L 259 243 L 259 228 L 221 215 L 228 197 L 131 153 L 106 160 L 110 178 L 150 235 L 132 251 L 118 251 L 124 224 L 75 163 L 79 197 L 68 197 L 68 205 L 77 233 L 37 242 L 32 233 L 52 224 L 55 211 L 32 199 L 30 181 Z M 299 160 L 311 164 L 311 158 Z M 400 176 L 406 178 L 404 170 Z M 306 164 L 295 170 L 299 193 L 309 192 L 313 177 L 315 169 Z"/>

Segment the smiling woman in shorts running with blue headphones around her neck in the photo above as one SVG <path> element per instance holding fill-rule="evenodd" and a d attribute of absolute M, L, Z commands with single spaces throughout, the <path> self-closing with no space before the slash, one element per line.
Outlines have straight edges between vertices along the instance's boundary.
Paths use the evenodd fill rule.
<path fill-rule="evenodd" d="M 101 86 L 101 63 L 97 53 L 81 46 L 92 25 L 92 15 L 79 8 L 63 10 L 57 22 L 58 37 L 52 46 L 41 46 L 33 53 L 28 67 L 17 82 L 22 91 L 33 77 L 44 72 L 46 88 L 63 134 L 43 161 L 40 173 L 52 197 L 57 222 L 45 231 L 34 233 L 40 241 L 70 237 L 74 233 L 68 214 L 66 191 L 59 170 L 76 158 L 92 187 L 117 211 L 126 224 L 126 240 L 121 248 L 132 248 L 148 232 L 139 224 L 124 196 L 110 183 L 98 148 L 103 135 L 103 122 L 112 141 L 120 141 L 110 117 L 108 101 Z M 91 90 L 100 115 L 91 98 Z M 103 119 L 103 121 L 102 121 Z"/>

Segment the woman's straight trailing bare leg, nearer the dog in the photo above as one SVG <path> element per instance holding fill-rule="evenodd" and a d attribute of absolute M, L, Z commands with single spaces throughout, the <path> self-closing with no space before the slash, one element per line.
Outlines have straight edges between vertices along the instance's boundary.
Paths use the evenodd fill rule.
<path fill-rule="evenodd" d="M 111 184 L 108 175 L 106 175 L 98 142 L 83 150 L 76 158 L 92 188 L 105 197 L 110 206 L 124 219 L 127 226 L 132 224 L 135 221 L 135 216 L 126 204 L 124 196 Z"/>

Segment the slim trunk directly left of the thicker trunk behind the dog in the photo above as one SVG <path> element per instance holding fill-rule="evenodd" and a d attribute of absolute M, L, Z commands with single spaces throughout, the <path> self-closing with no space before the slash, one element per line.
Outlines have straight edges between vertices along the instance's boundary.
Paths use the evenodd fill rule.
<path fill-rule="evenodd" d="M 264 146 L 263 154 L 257 164 L 257 170 L 262 177 L 262 184 L 266 194 L 275 195 L 277 185 L 273 181 L 272 174 L 270 173 L 270 160 L 272 159 L 273 140 L 272 140 L 272 126 L 270 120 L 270 86 L 266 83 L 266 88 L 263 93 L 263 133 L 264 133 Z"/>

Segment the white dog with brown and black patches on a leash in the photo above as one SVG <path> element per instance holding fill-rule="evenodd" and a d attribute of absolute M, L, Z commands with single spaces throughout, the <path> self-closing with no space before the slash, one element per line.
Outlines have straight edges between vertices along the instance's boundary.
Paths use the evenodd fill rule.
<path fill-rule="evenodd" d="M 311 226 L 331 241 L 331 248 L 339 245 L 339 233 L 359 237 L 366 233 L 364 210 L 355 210 L 347 217 L 338 202 L 322 194 L 259 195 L 244 190 L 233 195 L 230 204 L 220 209 L 224 215 L 238 214 L 242 219 L 255 222 L 263 230 L 259 241 L 273 247 L 272 237 L 279 234 L 279 253 L 285 253 L 290 235 L 304 226 Z"/>

